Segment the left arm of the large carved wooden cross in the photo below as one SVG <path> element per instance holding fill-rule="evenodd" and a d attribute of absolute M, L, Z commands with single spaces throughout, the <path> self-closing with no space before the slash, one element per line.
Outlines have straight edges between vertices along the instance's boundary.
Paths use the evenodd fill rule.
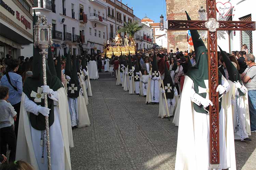
<path fill-rule="evenodd" d="M 168 30 L 208 30 L 205 21 L 168 20 Z"/>

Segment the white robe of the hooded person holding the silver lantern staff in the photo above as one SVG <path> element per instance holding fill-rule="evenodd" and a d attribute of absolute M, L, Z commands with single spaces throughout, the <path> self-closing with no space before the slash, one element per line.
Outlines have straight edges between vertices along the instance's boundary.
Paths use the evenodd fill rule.
<path fill-rule="evenodd" d="M 54 123 L 49 127 L 52 169 L 71 170 L 69 147 L 74 145 L 65 89 L 59 88 L 55 95 L 58 96 L 55 97 L 58 101 L 54 101 Z M 41 163 L 41 131 L 35 130 L 29 121 L 29 114 L 37 112 L 36 106 L 25 93 L 22 94 L 16 159 L 28 162 L 37 170 L 47 170 L 46 142 Z"/>

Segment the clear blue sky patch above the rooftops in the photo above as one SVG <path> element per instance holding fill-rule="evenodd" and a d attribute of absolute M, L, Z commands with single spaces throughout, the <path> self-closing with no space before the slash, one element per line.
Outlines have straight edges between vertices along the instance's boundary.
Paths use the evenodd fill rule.
<path fill-rule="evenodd" d="M 166 20 L 165 0 L 122 0 L 122 3 L 128 3 L 128 7 L 133 7 L 133 14 L 140 19 L 147 15 L 148 18 L 159 22 L 162 14 Z"/>

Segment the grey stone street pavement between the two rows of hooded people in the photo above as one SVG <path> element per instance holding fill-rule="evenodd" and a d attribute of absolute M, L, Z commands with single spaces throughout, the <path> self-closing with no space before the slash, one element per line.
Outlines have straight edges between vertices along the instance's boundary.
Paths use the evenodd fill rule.
<path fill-rule="evenodd" d="M 108 74 L 91 80 L 91 126 L 73 130 L 72 170 L 174 170 L 178 127 L 173 118 L 158 118 L 159 105 L 129 95 Z M 256 167 L 256 133 L 251 138 L 235 142 L 237 170 Z"/>

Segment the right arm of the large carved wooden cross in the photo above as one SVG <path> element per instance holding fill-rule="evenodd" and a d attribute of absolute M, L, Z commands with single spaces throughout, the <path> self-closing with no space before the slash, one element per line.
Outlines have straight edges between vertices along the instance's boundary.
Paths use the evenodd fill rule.
<path fill-rule="evenodd" d="M 236 30 L 236 31 L 254 31 L 255 22 L 253 21 L 218 21 L 219 28 L 217 30 Z"/>

